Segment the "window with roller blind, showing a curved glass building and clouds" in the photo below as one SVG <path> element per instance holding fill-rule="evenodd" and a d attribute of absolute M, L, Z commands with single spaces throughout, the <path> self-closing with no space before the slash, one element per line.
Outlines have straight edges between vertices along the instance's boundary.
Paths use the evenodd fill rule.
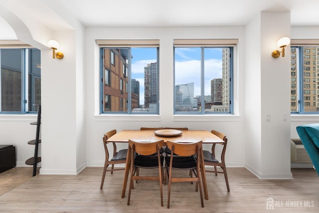
<path fill-rule="evenodd" d="M 229 40 L 174 40 L 174 114 L 233 113 Z"/>

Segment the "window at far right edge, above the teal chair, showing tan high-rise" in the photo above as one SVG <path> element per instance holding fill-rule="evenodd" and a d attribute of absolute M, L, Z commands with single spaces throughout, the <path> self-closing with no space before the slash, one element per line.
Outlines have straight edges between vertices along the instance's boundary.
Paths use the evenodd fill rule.
<path fill-rule="evenodd" d="M 313 39 L 292 39 L 291 52 L 296 60 L 291 59 L 291 72 L 297 70 L 291 79 L 291 112 L 312 114 L 319 112 L 319 43 Z M 311 43 L 311 44 L 310 44 Z M 294 79 L 294 80 L 293 80 Z M 297 92 L 296 92 L 297 89 Z"/>

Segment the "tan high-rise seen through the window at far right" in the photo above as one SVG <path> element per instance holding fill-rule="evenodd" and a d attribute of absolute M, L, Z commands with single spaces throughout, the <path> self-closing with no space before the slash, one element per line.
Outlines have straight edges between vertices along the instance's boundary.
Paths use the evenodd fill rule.
<path fill-rule="evenodd" d="M 319 61 L 317 55 L 319 54 L 318 47 L 304 47 L 304 88 L 302 91 L 304 94 L 304 111 L 316 112 L 319 111 L 319 97 L 318 97 L 318 71 L 317 66 Z M 297 67 L 300 67 L 297 59 L 297 48 L 291 48 L 291 112 L 298 111 L 298 79 L 297 79 Z"/>

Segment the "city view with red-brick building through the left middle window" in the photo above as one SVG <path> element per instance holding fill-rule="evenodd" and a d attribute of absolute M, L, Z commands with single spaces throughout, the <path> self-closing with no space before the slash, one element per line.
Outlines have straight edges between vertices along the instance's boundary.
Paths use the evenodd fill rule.
<path fill-rule="evenodd" d="M 157 54 L 156 47 L 103 48 L 103 112 L 158 112 Z"/>

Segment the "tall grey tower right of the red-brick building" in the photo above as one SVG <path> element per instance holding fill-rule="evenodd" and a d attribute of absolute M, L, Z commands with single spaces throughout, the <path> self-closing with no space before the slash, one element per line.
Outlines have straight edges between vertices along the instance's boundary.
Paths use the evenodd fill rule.
<path fill-rule="evenodd" d="M 144 67 L 144 105 L 146 108 L 150 104 L 158 103 L 158 66 L 157 62 L 150 63 Z"/>

